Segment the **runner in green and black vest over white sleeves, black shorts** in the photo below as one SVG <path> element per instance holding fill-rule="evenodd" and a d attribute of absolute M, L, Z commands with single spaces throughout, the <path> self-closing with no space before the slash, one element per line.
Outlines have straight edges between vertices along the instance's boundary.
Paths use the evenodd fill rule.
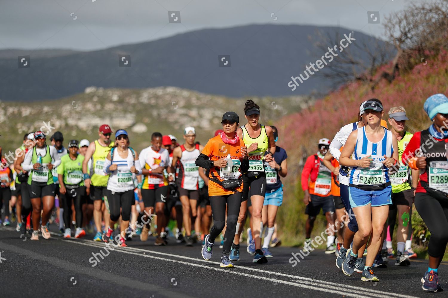
<path fill-rule="evenodd" d="M 55 189 L 52 176 L 52 168 L 60 164 L 60 157 L 56 148 L 48 146 L 45 141 L 45 134 L 42 131 L 34 133 L 36 146 L 29 150 L 23 161 L 22 169 L 28 171 L 28 185 L 33 206 L 33 234 L 31 240 L 39 240 L 39 221 L 42 212 L 42 225 L 40 231 L 44 239 L 51 237 L 48 231 L 47 222 L 55 203 Z"/>

